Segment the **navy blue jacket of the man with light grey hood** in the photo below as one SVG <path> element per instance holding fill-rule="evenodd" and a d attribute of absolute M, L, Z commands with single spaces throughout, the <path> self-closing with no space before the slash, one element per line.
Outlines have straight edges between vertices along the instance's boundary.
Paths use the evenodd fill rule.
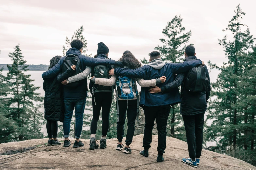
<path fill-rule="evenodd" d="M 114 70 L 114 73 L 115 75 L 118 75 L 118 76 L 143 78 L 144 80 L 157 79 L 157 78 L 160 78 L 161 76 L 166 76 L 166 81 L 164 83 L 157 84 L 157 86 L 161 88 L 166 84 L 169 84 L 172 81 L 174 81 L 175 74 L 185 72 L 191 69 L 192 67 L 196 67 L 201 64 L 202 64 L 201 60 L 188 61 L 184 63 L 165 63 L 161 69 L 155 69 L 149 65 L 144 65 L 143 67 L 132 69 L 132 70 L 128 68 L 116 68 Z M 180 100 L 178 87 L 172 89 L 168 93 L 155 93 L 155 94 L 149 93 L 148 87 L 141 88 L 141 99 L 140 99 L 141 107 L 143 107 L 144 105 L 148 107 L 175 105 L 177 103 L 180 103 L 180 101 L 181 100 Z"/>

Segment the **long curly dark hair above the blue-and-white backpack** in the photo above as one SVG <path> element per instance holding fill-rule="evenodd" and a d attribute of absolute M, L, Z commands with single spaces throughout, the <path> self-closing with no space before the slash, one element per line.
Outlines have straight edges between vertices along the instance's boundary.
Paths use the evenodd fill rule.
<path fill-rule="evenodd" d="M 123 54 L 123 56 L 118 61 L 122 62 L 125 66 L 127 66 L 130 69 L 136 69 L 141 67 L 141 62 L 138 59 L 136 59 L 131 52 Z"/>

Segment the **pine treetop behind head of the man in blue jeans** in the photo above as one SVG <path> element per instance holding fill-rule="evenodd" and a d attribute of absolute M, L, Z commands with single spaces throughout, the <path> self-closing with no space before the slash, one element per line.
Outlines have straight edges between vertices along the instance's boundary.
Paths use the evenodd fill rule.
<path fill-rule="evenodd" d="M 66 42 L 65 42 L 66 45 L 63 45 L 63 51 L 62 51 L 63 55 L 66 55 L 67 50 L 71 48 L 71 46 L 70 46 L 71 41 L 73 41 L 74 39 L 79 39 L 79 40 L 83 41 L 83 43 L 84 43 L 82 54 L 91 57 L 92 54 L 90 54 L 90 55 L 86 54 L 86 51 L 88 51 L 87 40 L 83 36 L 83 31 L 84 31 L 84 28 L 83 28 L 83 26 L 81 26 L 80 28 L 78 28 L 78 30 L 76 30 L 74 32 L 74 35 L 72 35 L 71 39 L 66 37 Z"/>

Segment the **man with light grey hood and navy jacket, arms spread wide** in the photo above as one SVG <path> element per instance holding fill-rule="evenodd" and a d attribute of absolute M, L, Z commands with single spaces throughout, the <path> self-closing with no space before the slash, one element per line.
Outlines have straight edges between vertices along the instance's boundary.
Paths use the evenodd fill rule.
<path fill-rule="evenodd" d="M 201 60 L 193 60 L 184 63 L 165 63 L 162 61 L 160 53 L 157 51 L 150 53 L 149 61 L 149 64 L 137 69 L 116 68 L 110 70 L 109 73 L 111 75 L 143 78 L 144 80 L 165 76 L 166 81 L 157 85 L 159 88 L 161 88 L 174 81 L 175 74 L 188 71 L 192 67 L 204 65 L 204 62 Z M 157 162 L 162 162 L 164 160 L 163 153 L 166 148 L 166 126 L 171 109 L 170 106 L 177 103 L 180 103 L 178 87 L 172 89 L 168 93 L 155 94 L 151 94 L 148 91 L 148 87 L 141 88 L 140 106 L 143 108 L 145 115 L 145 129 L 143 137 L 144 150 L 140 151 L 141 155 L 148 157 L 148 149 L 151 147 L 152 130 L 153 126 L 155 125 L 154 121 L 156 119 L 158 131 Z"/>

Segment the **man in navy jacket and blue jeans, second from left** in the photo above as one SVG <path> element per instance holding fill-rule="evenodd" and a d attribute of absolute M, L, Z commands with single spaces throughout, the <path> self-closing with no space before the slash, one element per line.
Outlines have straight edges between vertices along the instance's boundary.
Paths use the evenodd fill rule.
<path fill-rule="evenodd" d="M 87 66 L 96 66 L 96 65 L 118 65 L 123 67 L 123 64 L 119 61 L 115 60 L 104 60 L 87 57 L 82 55 L 82 47 L 84 43 L 81 40 L 73 40 L 70 43 L 71 47 L 67 51 L 67 55 L 73 54 L 80 59 L 81 67 L 80 69 L 83 71 Z M 62 57 L 60 61 L 53 66 L 48 71 L 42 74 L 42 78 L 53 78 L 56 77 L 60 72 L 62 72 L 62 64 L 65 57 Z M 65 80 L 66 81 L 66 80 Z M 67 82 L 67 81 L 66 81 Z M 63 84 L 63 83 L 62 83 Z M 66 83 L 67 84 L 67 83 Z M 64 130 L 64 147 L 69 147 L 71 142 L 69 140 L 69 132 L 70 132 L 70 122 L 73 115 L 73 110 L 75 108 L 75 117 L 76 117 L 76 129 L 75 129 L 75 138 L 76 141 L 73 147 L 84 146 L 84 144 L 80 141 L 80 135 L 83 126 L 83 113 L 85 108 L 85 102 L 87 97 L 87 79 L 83 79 L 81 85 L 76 88 L 63 88 L 63 96 L 64 96 L 64 104 L 65 104 L 65 114 L 63 121 L 63 130 Z"/>

